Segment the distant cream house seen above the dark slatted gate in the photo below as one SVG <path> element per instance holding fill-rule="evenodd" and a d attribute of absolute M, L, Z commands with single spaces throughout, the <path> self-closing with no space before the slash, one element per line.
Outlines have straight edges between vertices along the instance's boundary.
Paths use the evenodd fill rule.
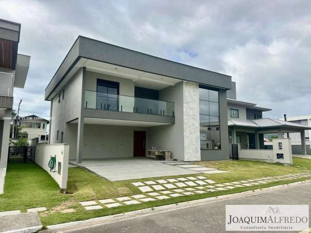
<path fill-rule="evenodd" d="M 21 117 L 18 126 L 22 129 L 17 137 L 26 136 L 28 140 L 38 138 L 38 143 L 48 142 L 47 125 L 49 121 L 35 115 Z"/>

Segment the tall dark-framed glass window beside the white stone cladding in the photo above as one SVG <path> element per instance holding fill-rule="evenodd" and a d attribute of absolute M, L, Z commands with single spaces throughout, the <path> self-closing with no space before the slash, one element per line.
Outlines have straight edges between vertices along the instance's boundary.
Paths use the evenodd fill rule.
<path fill-rule="evenodd" d="M 221 149 L 218 91 L 201 86 L 199 91 L 201 149 Z"/>

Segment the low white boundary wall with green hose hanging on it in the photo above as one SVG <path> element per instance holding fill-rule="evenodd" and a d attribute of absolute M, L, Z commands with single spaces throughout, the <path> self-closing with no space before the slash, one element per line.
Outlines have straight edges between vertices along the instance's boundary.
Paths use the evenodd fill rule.
<path fill-rule="evenodd" d="M 35 150 L 35 163 L 46 170 L 56 183 L 58 183 L 61 189 L 66 189 L 68 179 L 69 145 L 40 143 L 36 144 Z M 56 165 L 51 172 L 49 161 L 51 156 L 55 155 Z M 61 163 L 60 170 L 58 170 L 58 163 Z"/>

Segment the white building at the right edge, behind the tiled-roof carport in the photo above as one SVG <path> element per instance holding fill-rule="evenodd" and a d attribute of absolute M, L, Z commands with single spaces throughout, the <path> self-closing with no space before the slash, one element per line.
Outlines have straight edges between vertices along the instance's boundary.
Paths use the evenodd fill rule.
<path fill-rule="evenodd" d="M 291 116 L 286 119 L 289 122 L 305 125 L 311 127 L 311 115 L 309 116 Z M 292 139 L 293 153 L 299 153 L 301 145 L 301 137 L 304 137 L 307 145 L 307 152 L 311 153 L 311 130 L 305 130 L 304 135 L 301 133 L 290 133 L 289 137 Z"/>

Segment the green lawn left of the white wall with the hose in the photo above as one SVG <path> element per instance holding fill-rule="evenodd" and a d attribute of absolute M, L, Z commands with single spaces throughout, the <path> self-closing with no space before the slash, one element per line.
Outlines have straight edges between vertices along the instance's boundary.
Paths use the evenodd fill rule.
<path fill-rule="evenodd" d="M 32 207 L 52 208 L 70 196 L 59 191 L 57 183 L 35 164 L 8 164 L 0 211 L 25 210 Z"/>

